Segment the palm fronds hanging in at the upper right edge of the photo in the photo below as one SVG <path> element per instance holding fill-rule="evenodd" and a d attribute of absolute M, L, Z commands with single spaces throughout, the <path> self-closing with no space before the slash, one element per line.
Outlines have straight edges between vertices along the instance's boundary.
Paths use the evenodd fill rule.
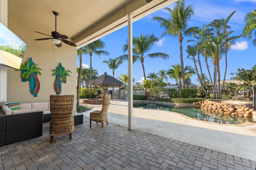
<path fill-rule="evenodd" d="M 256 28 L 256 10 L 253 10 L 246 14 L 244 17 L 245 26 L 243 29 L 243 35 L 246 35 L 249 39 L 252 38 L 252 31 Z M 256 31 L 254 32 L 254 39 L 252 45 L 256 46 Z"/>

